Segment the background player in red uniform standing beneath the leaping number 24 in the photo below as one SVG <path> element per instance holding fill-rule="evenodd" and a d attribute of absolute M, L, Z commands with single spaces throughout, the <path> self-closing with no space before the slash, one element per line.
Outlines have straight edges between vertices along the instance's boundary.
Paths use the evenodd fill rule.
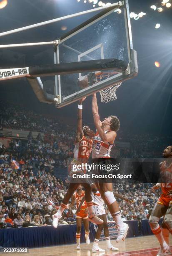
<path fill-rule="evenodd" d="M 82 190 L 82 186 L 79 185 L 77 188 L 77 191 L 72 195 L 72 202 L 70 204 L 70 207 L 73 207 L 74 203 L 77 204 L 77 212 L 76 212 L 76 221 L 77 221 L 77 232 L 76 232 L 76 238 L 77 238 L 77 250 L 80 250 L 80 236 L 81 236 L 81 225 L 82 221 L 85 228 L 85 241 L 87 244 L 90 244 L 89 239 L 89 220 L 88 220 L 88 210 L 87 210 L 87 203 L 86 201 L 82 200 L 85 197 L 85 191 Z M 82 201 L 82 205 L 80 205 Z M 80 205 L 80 209 L 78 209 Z"/>

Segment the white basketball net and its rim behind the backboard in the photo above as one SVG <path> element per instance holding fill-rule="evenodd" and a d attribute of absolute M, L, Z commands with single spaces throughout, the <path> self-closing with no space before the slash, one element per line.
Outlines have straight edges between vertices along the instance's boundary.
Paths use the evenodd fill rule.
<path fill-rule="evenodd" d="M 109 77 L 112 77 L 113 75 L 117 74 L 114 71 L 110 72 L 98 72 L 95 74 L 96 77 L 96 83 L 101 82 Z M 105 88 L 100 91 L 100 96 L 101 96 L 101 102 L 102 103 L 107 103 L 110 102 L 111 100 L 117 100 L 117 95 L 116 95 L 116 90 L 122 82 L 112 84 L 110 87 Z"/>

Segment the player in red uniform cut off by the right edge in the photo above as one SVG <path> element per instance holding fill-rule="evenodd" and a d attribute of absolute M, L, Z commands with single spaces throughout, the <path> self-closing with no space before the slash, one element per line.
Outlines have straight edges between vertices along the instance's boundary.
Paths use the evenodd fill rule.
<path fill-rule="evenodd" d="M 161 175 L 167 181 L 172 181 L 172 146 L 168 146 L 162 154 L 166 160 L 163 161 L 160 165 Z M 160 243 L 160 251 L 157 256 L 164 255 L 172 255 L 169 247 L 168 239 L 164 239 L 162 234 L 162 228 L 158 224 L 158 221 L 162 216 L 164 217 L 164 222 L 167 228 L 170 230 L 172 234 L 172 183 L 157 183 L 156 186 L 152 188 L 155 190 L 160 188 L 162 190 L 162 194 L 158 199 L 152 213 L 150 215 L 149 224 L 152 232 L 157 237 Z M 168 238 L 167 234 L 165 236 Z"/>

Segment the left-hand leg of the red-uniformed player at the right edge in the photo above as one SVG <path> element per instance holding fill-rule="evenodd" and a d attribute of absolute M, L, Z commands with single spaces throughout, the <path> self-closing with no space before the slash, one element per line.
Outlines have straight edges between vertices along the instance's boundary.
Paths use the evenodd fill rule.
<path fill-rule="evenodd" d="M 152 233 L 157 237 L 159 243 L 160 243 L 160 251 L 158 252 L 158 256 L 163 255 L 163 253 L 166 253 L 169 251 L 169 246 L 165 242 L 165 239 L 162 236 L 162 228 L 158 224 L 160 218 L 165 215 L 165 212 L 167 211 L 167 207 L 163 205 L 162 203 L 157 203 L 152 210 L 152 213 L 149 218 L 149 224 L 150 228 L 152 230 Z"/>

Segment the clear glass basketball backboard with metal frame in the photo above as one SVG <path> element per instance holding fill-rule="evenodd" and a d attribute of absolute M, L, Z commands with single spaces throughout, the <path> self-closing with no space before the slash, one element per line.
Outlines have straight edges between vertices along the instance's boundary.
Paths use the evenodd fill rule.
<path fill-rule="evenodd" d="M 91 95 L 105 87 L 137 75 L 137 54 L 132 46 L 130 26 L 130 12 L 128 0 L 119 2 L 118 7 L 103 10 L 77 28 L 59 38 L 55 49 L 55 64 L 70 62 L 83 62 L 92 60 L 116 59 L 117 63 L 102 68 L 106 72 L 114 71 L 113 75 L 100 82 L 95 82 L 93 74 L 92 83 L 87 87 L 80 87 L 78 79 L 89 75 L 90 72 L 75 74 L 60 74 L 55 76 L 55 95 L 57 108 L 79 100 L 81 97 Z M 84 62 L 83 62 L 84 63 Z M 86 63 L 86 62 L 85 62 Z M 101 72 L 101 70 L 95 70 Z"/>

